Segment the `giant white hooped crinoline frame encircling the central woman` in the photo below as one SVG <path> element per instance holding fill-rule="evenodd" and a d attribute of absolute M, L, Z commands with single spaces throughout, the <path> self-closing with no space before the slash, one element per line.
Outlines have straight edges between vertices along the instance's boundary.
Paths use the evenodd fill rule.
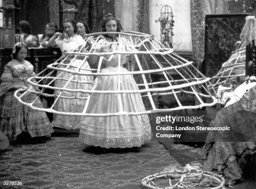
<path fill-rule="evenodd" d="M 198 92 L 196 86 L 200 85 L 201 88 L 203 88 L 205 91 L 209 91 L 209 89 L 207 88 L 207 85 L 205 86 L 204 83 L 210 81 L 210 78 L 206 78 L 202 73 L 200 73 L 197 68 L 195 68 L 192 65 L 192 61 L 187 61 L 184 58 L 180 57 L 179 55 L 177 55 L 176 53 L 173 52 L 172 48 L 166 48 L 163 44 L 161 44 L 159 41 L 157 41 L 152 35 L 149 34 L 144 34 L 144 33 L 139 33 L 139 32 L 100 32 L 100 33 L 92 33 L 92 34 L 88 34 L 87 38 L 84 39 L 85 44 L 88 43 L 88 41 L 90 41 L 90 43 L 92 44 L 92 47 L 94 47 L 95 45 L 97 45 L 97 42 L 99 39 L 104 39 L 103 35 L 107 35 L 107 34 L 115 34 L 115 35 L 119 35 L 119 39 L 120 36 L 126 36 L 128 39 L 126 39 L 129 43 L 131 43 L 131 46 L 133 47 L 133 50 L 131 51 L 123 51 L 123 50 L 113 50 L 111 52 L 92 52 L 93 48 L 89 49 L 88 52 L 81 52 L 82 48 L 81 45 L 77 45 L 77 47 L 80 48 L 80 50 L 78 50 L 77 52 L 75 51 L 76 48 L 74 48 L 72 51 L 69 52 L 65 52 L 64 55 L 61 56 L 61 58 L 59 58 L 58 60 L 56 60 L 55 63 L 51 63 L 47 66 L 47 68 L 43 71 L 41 71 L 40 73 L 36 74 L 36 76 L 29 78 L 28 82 L 36 87 L 36 88 L 41 88 L 41 90 L 39 91 L 35 91 L 33 89 L 18 89 L 17 91 L 15 91 L 15 98 L 18 99 L 18 101 L 20 101 L 21 103 L 25 104 L 26 106 L 30 106 L 33 109 L 39 110 L 39 111 L 46 111 L 49 113 L 56 113 L 56 114 L 62 114 L 62 115 L 72 115 L 72 116 L 119 116 L 119 115 L 126 115 L 126 116 L 134 116 L 134 115 L 141 115 L 141 114 L 148 114 L 148 113 L 154 113 L 154 111 L 159 111 L 159 112 L 166 112 L 166 111 L 176 111 L 176 110 L 182 110 L 182 109 L 189 109 L 189 108 L 202 108 L 205 106 L 213 106 L 216 103 L 218 103 L 218 99 L 215 98 L 214 96 L 211 96 L 210 92 L 208 92 L 206 94 L 202 93 L 202 92 Z M 97 36 L 96 38 L 93 38 Z M 133 38 L 132 38 L 133 37 Z M 114 42 L 113 42 L 114 43 Z M 115 42 L 118 44 L 118 42 Z M 126 42 L 125 42 L 126 43 Z M 148 43 L 149 45 L 145 45 L 146 43 Z M 110 44 L 110 43 L 109 43 Z M 107 45 L 109 45 L 107 44 Z M 141 51 L 141 50 L 135 50 L 136 48 L 143 46 L 143 48 L 145 48 L 145 50 Z M 153 49 L 151 47 L 154 47 Z M 94 69 L 94 68 L 90 68 L 87 69 L 87 71 L 90 72 L 86 72 L 86 73 L 81 73 L 79 70 L 80 68 L 76 68 L 77 70 L 71 70 L 68 69 L 70 67 L 72 67 L 71 63 L 72 61 L 74 61 L 75 58 L 77 58 L 77 56 L 84 56 L 83 59 L 83 63 L 85 63 L 85 61 L 87 61 L 88 56 L 89 55 L 98 55 L 100 56 L 100 60 L 98 63 L 98 68 Z M 109 55 L 109 57 L 113 57 L 114 55 L 118 55 L 118 68 L 120 69 L 120 56 L 121 55 L 132 55 L 132 58 L 134 61 L 131 61 L 130 63 L 130 67 L 131 70 L 128 72 L 115 72 L 115 73 L 100 73 L 100 68 L 102 65 L 102 60 L 103 60 L 103 55 Z M 146 67 L 147 70 L 143 70 L 141 62 L 138 58 L 138 55 L 141 55 L 141 60 L 144 61 L 144 63 L 146 63 Z M 148 66 L 148 63 L 145 60 L 144 55 L 149 55 L 155 62 L 155 64 L 158 66 L 158 69 L 150 69 Z M 161 65 L 161 63 L 159 62 L 159 60 L 157 60 L 155 55 L 160 55 L 162 56 L 166 63 L 169 65 L 169 67 L 164 67 L 163 65 Z M 164 56 L 167 56 L 164 57 Z M 67 58 L 70 57 L 74 57 L 74 59 L 72 59 L 72 61 L 69 64 L 65 64 L 64 61 Z M 172 58 L 173 61 L 176 63 L 176 65 L 172 65 L 172 63 L 168 60 L 168 58 Z M 137 63 L 137 67 L 139 71 L 133 71 L 134 65 L 133 63 Z M 129 63 L 128 63 L 129 64 Z M 66 68 L 60 68 L 59 66 L 66 66 Z M 188 66 L 191 66 L 188 68 Z M 129 65 L 128 65 L 129 68 Z M 197 78 L 195 76 L 195 74 L 190 70 L 190 68 L 193 68 L 195 70 L 198 71 L 199 76 L 201 76 L 201 78 Z M 44 73 L 47 69 L 52 70 L 50 73 L 48 73 L 46 76 L 41 77 L 40 74 Z M 73 74 L 72 77 L 70 78 L 66 78 L 63 79 L 64 81 L 67 81 L 67 84 L 69 82 L 73 81 L 73 78 L 75 75 L 84 75 L 84 76 L 118 76 L 118 78 L 122 75 L 136 75 L 138 74 L 141 78 L 142 78 L 142 83 L 136 83 L 138 90 L 115 90 L 115 91 L 95 91 L 93 88 L 91 90 L 84 90 L 84 89 L 69 89 L 69 88 L 65 88 L 65 86 L 63 88 L 58 88 L 56 86 L 52 86 L 52 83 L 57 79 L 60 79 L 58 76 L 56 77 L 52 77 L 51 74 L 54 71 L 62 71 L 62 73 L 64 72 L 68 72 Z M 174 80 L 172 78 L 172 76 L 170 76 L 168 71 L 176 71 L 177 73 L 179 73 L 179 75 L 181 76 L 181 79 L 179 80 Z M 185 71 L 184 74 L 180 73 L 180 70 Z M 96 72 L 96 73 L 92 73 L 92 72 Z M 164 77 L 166 78 L 166 81 L 152 81 L 150 78 L 150 74 L 151 73 L 162 73 L 164 75 Z M 147 81 L 147 77 L 145 76 L 145 74 L 149 74 L 148 77 L 148 81 Z M 192 77 L 191 77 L 192 75 Z M 185 76 L 189 76 L 190 78 L 185 78 Z M 97 82 L 97 78 L 95 78 L 96 81 L 94 81 L 95 83 Z M 36 83 L 33 82 L 33 80 L 36 79 Z M 51 80 L 49 83 L 47 84 L 42 84 L 42 81 L 44 80 Z M 41 83 L 40 83 L 41 82 Z M 76 82 L 76 81 L 73 81 Z M 77 81 L 79 82 L 79 81 Z M 167 87 L 154 87 L 157 86 L 158 84 L 162 84 L 162 83 L 166 83 L 169 84 L 169 86 Z M 182 83 L 182 84 L 178 84 L 178 83 Z M 66 86 L 67 86 L 66 84 Z M 118 86 L 120 88 L 120 85 Z M 143 87 L 143 89 L 141 89 L 141 87 Z M 61 93 L 63 93 L 64 91 L 67 92 L 75 92 L 75 93 L 84 93 L 84 94 L 89 94 L 87 97 L 79 97 L 79 96 L 63 96 L 61 95 L 61 93 L 59 94 L 47 94 L 44 93 L 44 90 L 48 88 L 48 89 L 54 89 L 54 90 L 59 90 L 61 91 Z M 190 91 L 187 91 L 187 88 L 190 88 Z M 25 92 L 24 92 L 25 91 Z M 20 96 L 18 96 L 18 93 L 20 92 L 24 92 L 22 93 Z M 178 93 L 187 93 L 189 95 L 195 95 L 199 101 L 199 104 L 194 105 L 194 106 L 183 106 L 182 103 L 179 101 L 179 98 L 177 96 Z M 23 95 L 25 95 L 26 93 L 34 93 L 36 95 L 42 95 L 42 96 L 46 96 L 46 97 L 56 97 L 56 100 L 54 100 L 54 104 L 56 103 L 56 101 L 58 100 L 58 98 L 67 98 L 67 99 L 74 99 L 74 98 L 78 98 L 78 99 L 87 99 L 86 104 L 84 106 L 84 110 L 82 112 L 60 112 L 60 111 L 56 111 L 54 110 L 54 104 L 51 106 L 51 108 L 40 108 L 40 107 L 34 107 L 33 106 L 33 102 L 24 102 L 22 101 L 21 97 Z M 131 112 L 127 112 L 124 111 L 122 108 L 120 111 L 118 112 L 107 112 L 107 113 L 86 113 L 87 107 L 88 107 L 88 102 L 90 100 L 90 96 L 91 94 L 117 94 L 118 99 L 121 99 L 121 95 L 122 94 L 129 94 L 129 93 L 140 93 L 142 98 L 148 98 L 149 102 L 151 104 L 152 109 L 151 110 L 146 110 L 146 111 L 141 111 L 141 112 L 135 112 L 135 111 L 131 111 Z M 165 95 L 173 95 L 173 97 L 175 98 L 175 100 L 177 101 L 177 107 L 174 108 L 166 108 L 166 109 L 159 109 L 156 108 L 156 104 L 153 100 L 154 96 L 165 96 Z M 211 98 L 212 102 L 210 103 L 205 103 L 203 102 L 203 100 L 201 98 Z M 36 100 L 35 100 L 36 101 Z M 119 102 L 120 107 L 123 107 L 122 105 L 122 101 L 120 100 Z"/>

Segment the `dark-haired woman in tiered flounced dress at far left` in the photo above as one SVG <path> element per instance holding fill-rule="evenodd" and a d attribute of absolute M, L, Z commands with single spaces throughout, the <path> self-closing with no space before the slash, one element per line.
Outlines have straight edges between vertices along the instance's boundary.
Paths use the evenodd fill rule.
<path fill-rule="evenodd" d="M 36 111 L 18 102 L 14 97 L 19 88 L 34 88 L 27 79 L 35 76 L 33 66 L 27 60 L 28 47 L 25 43 L 16 43 L 13 47 L 13 59 L 7 63 L 1 76 L 0 85 L 0 130 L 11 141 L 23 131 L 31 137 L 50 136 L 54 130 L 45 112 Z M 20 96 L 20 94 L 18 94 Z M 33 93 L 22 97 L 25 102 L 33 102 L 37 96 Z M 43 108 L 37 98 L 34 105 Z"/>

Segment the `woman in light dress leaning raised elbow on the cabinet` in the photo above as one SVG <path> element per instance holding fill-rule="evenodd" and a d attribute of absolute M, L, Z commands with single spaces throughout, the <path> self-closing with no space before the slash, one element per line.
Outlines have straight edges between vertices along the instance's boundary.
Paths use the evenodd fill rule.
<path fill-rule="evenodd" d="M 74 20 L 66 20 L 62 24 L 62 27 L 66 35 L 64 35 L 64 33 L 56 32 L 47 43 L 47 46 L 51 47 L 51 46 L 57 45 L 61 49 L 61 52 L 65 53 L 65 52 L 74 50 L 74 48 L 77 48 L 78 45 L 84 45 L 85 42 L 83 38 L 80 35 L 77 35 L 77 23 Z M 65 63 L 69 64 L 73 59 L 74 57 L 70 57 L 67 60 L 65 60 Z M 77 71 L 76 69 L 82 65 L 80 72 L 88 72 L 88 71 L 82 70 L 82 69 L 90 69 L 88 62 L 86 61 L 85 63 L 83 63 L 82 59 L 80 60 L 79 57 L 77 57 L 76 60 L 72 61 L 71 63 L 72 66 L 70 66 L 69 69 Z M 65 67 L 66 66 L 59 66 L 59 68 L 65 68 Z M 73 76 L 73 74 L 64 72 L 64 71 L 57 71 L 56 76 L 59 76 L 60 79 L 55 80 L 54 87 L 63 88 L 67 83 L 67 81 L 64 81 L 63 79 L 69 79 L 70 77 Z M 78 81 L 80 81 L 80 83 L 74 82 L 74 81 L 77 81 L 77 79 Z M 74 75 L 73 80 L 74 81 L 70 82 L 66 86 L 66 88 L 69 88 L 69 89 L 82 88 L 84 90 L 87 90 L 91 88 L 91 84 L 88 84 L 88 83 L 93 82 L 93 77 Z M 75 93 L 75 92 L 59 91 L 59 90 L 55 90 L 54 94 L 58 96 L 60 92 L 62 92 L 61 96 L 87 97 L 87 94 L 84 94 L 84 93 Z M 62 112 L 82 113 L 85 103 L 86 103 L 86 100 L 84 99 L 59 98 L 54 106 L 54 110 L 62 111 Z M 68 130 L 79 129 L 79 124 L 78 124 L 80 122 L 79 116 L 63 116 L 59 114 L 54 114 L 53 118 L 54 118 L 54 120 L 52 121 L 53 127 L 60 127 Z"/>

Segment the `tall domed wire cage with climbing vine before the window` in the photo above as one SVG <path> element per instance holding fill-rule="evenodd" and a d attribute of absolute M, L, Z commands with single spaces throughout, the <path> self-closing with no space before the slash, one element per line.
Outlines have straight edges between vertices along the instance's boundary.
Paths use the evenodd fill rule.
<path fill-rule="evenodd" d="M 159 20 L 161 25 L 161 43 L 168 48 L 173 48 L 172 36 L 173 34 L 173 13 L 172 8 L 168 5 L 164 5 L 161 8 L 161 20 Z"/>

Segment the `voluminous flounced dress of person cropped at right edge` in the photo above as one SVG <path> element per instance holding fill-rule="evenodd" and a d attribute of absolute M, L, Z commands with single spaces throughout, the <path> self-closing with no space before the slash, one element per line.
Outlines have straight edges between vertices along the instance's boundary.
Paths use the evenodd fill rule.
<path fill-rule="evenodd" d="M 216 114 L 210 127 L 229 127 L 210 131 L 203 148 L 204 167 L 217 171 L 235 184 L 243 179 L 247 158 L 256 152 L 256 82 L 242 84 Z"/>

